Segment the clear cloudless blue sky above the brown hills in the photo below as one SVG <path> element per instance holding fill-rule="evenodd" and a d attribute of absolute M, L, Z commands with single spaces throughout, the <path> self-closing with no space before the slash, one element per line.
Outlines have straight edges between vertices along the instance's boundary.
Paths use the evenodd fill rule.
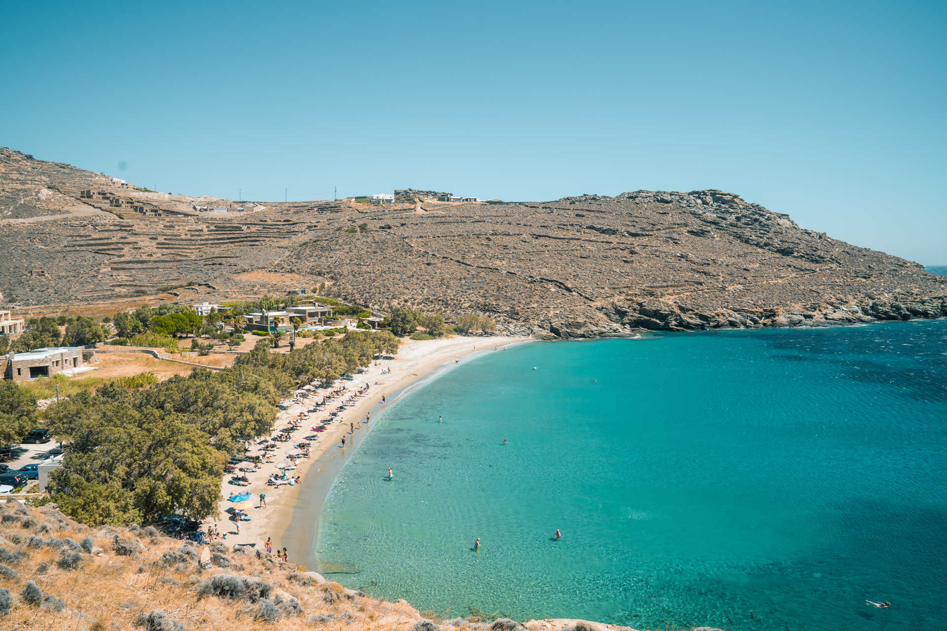
<path fill-rule="evenodd" d="M 37 1 L 0 24 L 0 145 L 162 191 L 721 188 L 947 263 L 942 0 Z"/>

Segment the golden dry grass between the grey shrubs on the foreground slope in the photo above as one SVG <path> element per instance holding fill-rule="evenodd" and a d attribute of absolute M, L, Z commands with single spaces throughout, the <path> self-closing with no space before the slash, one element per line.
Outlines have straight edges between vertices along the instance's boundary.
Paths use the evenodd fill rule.
<path fill-rule="evenodd" d="M 14 510 L 19 506 L 0 504 L 0 516 L 14 516 Z M 135 628 L 135 619 L 153 610 L 163 611 L 188 629 L 221 631 L 235 628 L 241 631 L 313 628 L 395 631 L 410 629 L 420 620 L 418 612 L 409 605 L 370 599 L 338 584 L 313 582 L 309 586 L 300 585 L 300 580 L 305 582 L 305 579 L 295 565 L 274 563 L 276 559 L 266 555 L 258 559 L 252 553 L 223 552 L 231 564 L 240 564 L 243 570 L 235 570 L 233 565 L 227 569 L 200 570 L 193 560 L 165 568 L 159 560 L 161 555 L 179 549 L 182 542 L 165 536 L 149 537 L 144 535 L 144 531 L 130 533 L 124 529 L 105 528 L 93 532 L 62 518 L 55 508 L 36 508 L 30 513 L 30 516 L 17 516 L 20 518 L 15 521 L 0 523 L 0 547 L 14 554 L 25 553 L 23 558 L 15 561 L 0 559 L 0 563 L 17 574 L 13 578 L 0 576 L 0 588 L 9 589 L 14 600 L 9 613 L 0 616 L 0 628 L 132 629 Z M 111 538 L 113 533 L 137 538 L 144 552 L 135 556 L 116 555 Z M 30 535 L 42 537 L 45 541 L 70 537 L 77 542 L 92 535 L 96 548 L 93 554 L 81 552 L 79 569 L 63 570 L 56 563 L 61 550 L 49 545 L 30 547 Z M 200 552 L 199 548 L 197 550 Z M 255 620 L 259 604 L 216 596 L 199 597 L 201 583 L 215 574 L 258 577 L 274 587 L 273 600 L 277 599 L 277 594 L 285 592 L 298 599 L 303 613 L 281 617 L 277 622 L 264 622 Z M 34 581 L 44 595 L 52 594 L 62 600 L 65 609 L 56 612 L 23 602 L 20 592 L 27 580 Z M 316 580 L 321 580 L 321 577 Z M 333 595 L 327 596 L 330 592 Z M 310 622 L 314 616 L 327 616 L 330 620 Z"/>

